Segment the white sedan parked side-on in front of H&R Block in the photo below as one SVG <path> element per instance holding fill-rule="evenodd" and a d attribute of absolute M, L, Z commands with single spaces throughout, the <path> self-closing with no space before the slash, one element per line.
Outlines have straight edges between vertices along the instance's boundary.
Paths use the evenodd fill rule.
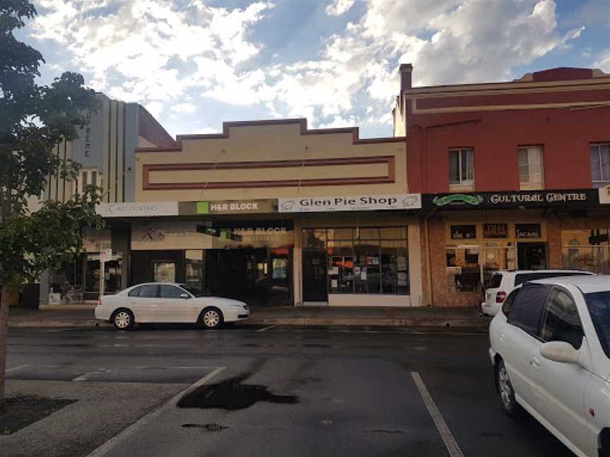
<path fill-rule="evenodd" d="M 208 329 L 248 319 L 246 303 L 230 298 L 201 296 L 181 284 L 147 283 L 131 286 L 97 301 L 95 318 L 128 330 L 136 323 L 191 323 Z"/>

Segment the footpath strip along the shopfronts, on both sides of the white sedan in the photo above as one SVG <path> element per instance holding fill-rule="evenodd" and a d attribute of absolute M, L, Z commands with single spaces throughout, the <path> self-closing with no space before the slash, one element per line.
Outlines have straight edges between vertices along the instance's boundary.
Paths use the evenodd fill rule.
<path fill-rule="evenodd" d="M 268 307 L 253 308 L 246 325 L 320 325 L 354 327 L 487 327 L 478 308 L 455 307 Z M 92 307 L 32 310 L 11 307 L 9 327 L 109 327 Z"/>

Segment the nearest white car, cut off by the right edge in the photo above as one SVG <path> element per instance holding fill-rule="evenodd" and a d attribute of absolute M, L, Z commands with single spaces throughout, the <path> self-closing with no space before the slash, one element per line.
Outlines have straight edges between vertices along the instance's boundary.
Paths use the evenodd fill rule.
<path fill-rule="evenodd" d="M 577 456 L 610 456 L 610 276 L 525 284 L 489 339 L 506 413 L 527 410 Z"/>

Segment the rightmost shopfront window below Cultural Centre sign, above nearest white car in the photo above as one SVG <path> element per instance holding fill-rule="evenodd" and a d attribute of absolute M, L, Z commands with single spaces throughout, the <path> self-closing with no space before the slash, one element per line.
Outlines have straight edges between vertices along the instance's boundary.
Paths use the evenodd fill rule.
<path fill-rule="evenodd" d="M 610 274 L 610 229 L 561 231 L 563 267 Z"/>

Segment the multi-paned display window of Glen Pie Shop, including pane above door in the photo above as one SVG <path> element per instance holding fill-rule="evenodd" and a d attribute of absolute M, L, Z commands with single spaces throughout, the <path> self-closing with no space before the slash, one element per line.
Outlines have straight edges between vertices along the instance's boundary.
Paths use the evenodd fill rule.
<path fill-rule="evenodd" d="M 302 235 L 305 252 L 326 254 L 328 293 L 409 294 L 406 227 L 315 228 Z M 304 262 L 304 278 L 316 276 L 307 271 L 316 266 Z"/>

